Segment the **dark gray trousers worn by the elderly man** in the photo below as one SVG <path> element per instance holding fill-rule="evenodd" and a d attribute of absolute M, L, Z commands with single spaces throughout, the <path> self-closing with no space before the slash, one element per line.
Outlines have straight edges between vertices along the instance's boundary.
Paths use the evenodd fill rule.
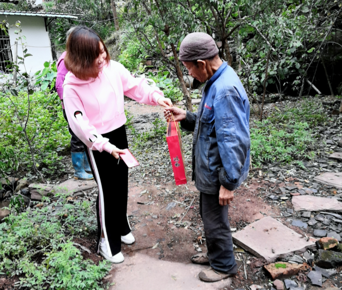
<path fill-rule="evenodd" d="M 229 228 L 228 205 L 220 205 L 219 194 L 201 192 L 199 212 L 204 225 L 210 266 L 224 273 L 235 274 L 237 264 Z"/>

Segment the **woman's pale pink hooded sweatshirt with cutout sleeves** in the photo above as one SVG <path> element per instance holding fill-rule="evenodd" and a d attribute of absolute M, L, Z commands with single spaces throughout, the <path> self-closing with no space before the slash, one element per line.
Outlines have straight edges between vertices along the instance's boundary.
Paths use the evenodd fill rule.
<path fill-rule="evenodd" d="M 158 99 L 163 96 L 157 87 L 149 86 L 146 79 L 133 77 L 122 64 L 113 60 L 96 79 L 81 80 L 68 72 L 63 89 L 65 112 L 73 132 L 91 150 L 108 153 L 115 146 L 101 134 L 126 123 L 123 95 L 147 105 L 158 105 Z"/>

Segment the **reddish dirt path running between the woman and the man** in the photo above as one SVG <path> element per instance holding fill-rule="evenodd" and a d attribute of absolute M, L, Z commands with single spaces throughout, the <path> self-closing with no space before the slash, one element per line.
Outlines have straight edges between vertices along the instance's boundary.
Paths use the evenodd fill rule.
<path fill-rule="evenodd" d="M 130 101 L 125 106 L 135 120 L 152 113 L 162 118 L 158 106 Z M 242 229 L 264 214 L 279 214 L 277 208 L 272 209 L 258 196 L 258 188 L 268 186 L 250 179 L 236 191 L 229 208 L 233 230 Z M 200 281 L 197 275 L 207 266 L 190 261 L 198 251 L 207 251 L 198 203 L 199 192 L 192 181 L 175 186 L 173 180 L 137 182 L 130 178 L 128 215 L 136 242 L 122 245 L 125 261 L 113 265 L 112 276 L 108 277 L 115 283 L 111 289 L 228 289 L 230 279 L 218 283 Z"/>

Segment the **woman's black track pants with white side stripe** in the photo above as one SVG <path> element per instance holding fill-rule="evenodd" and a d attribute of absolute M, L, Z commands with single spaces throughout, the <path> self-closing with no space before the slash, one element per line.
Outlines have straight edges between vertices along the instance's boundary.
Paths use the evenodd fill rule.
<path fill-rule="evenodd" d="M 119 149 L 128 148 L 126 128 L 102 134 Z M 96 199 L 97 250 L 104 232 L 109 256 L 121 251 L 121 235 L 130 233 L 127 218 L 128 167 L 106 151 L 98 152 L 86 148 L 89 164 L 98 186 Z"/>

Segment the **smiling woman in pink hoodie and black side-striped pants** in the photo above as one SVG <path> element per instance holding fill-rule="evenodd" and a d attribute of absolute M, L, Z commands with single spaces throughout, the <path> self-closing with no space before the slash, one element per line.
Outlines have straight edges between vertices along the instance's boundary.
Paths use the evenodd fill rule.
<path fill-rule="evenodd" d="M 103 40 L 90 28 L 76 27 L 66 50 L 65 111 L 71 129 L 87 147 L 98 185 L 97 251 L 120 263 L 121 242 L 135 241 L 127 218 L 128 167 L 116 161 L 128 148 L 123 95 L 148 105 L 169 107 L 172 102 L 144 78 L 134 78 L 122 64 L 110 60 Z"/>

